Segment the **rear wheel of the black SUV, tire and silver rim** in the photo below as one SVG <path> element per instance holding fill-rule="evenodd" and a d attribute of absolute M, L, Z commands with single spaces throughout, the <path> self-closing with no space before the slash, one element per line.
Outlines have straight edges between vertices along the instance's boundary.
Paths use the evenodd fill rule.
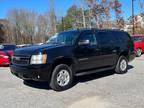
<path fill-rule="evenodd" d="M 117 74 L 124 74 L 127 72 L 128 69 L 128 60 L 125 56 L 120 56 L 117 62 L 115 72 Z"/>

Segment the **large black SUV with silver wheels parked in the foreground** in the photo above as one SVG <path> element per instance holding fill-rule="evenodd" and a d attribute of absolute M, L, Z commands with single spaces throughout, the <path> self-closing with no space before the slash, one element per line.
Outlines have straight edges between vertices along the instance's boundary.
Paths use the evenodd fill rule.
<path fill-rule="evenodd" d="M 72 30 L 46 44 L 16 49 L 12 74 L 23 80 L 48 81 L 56 91 L 68 89 L 73 77 L 105 70 L 127 72 L 135 58 L 129 34 L 120 30 Z"/>

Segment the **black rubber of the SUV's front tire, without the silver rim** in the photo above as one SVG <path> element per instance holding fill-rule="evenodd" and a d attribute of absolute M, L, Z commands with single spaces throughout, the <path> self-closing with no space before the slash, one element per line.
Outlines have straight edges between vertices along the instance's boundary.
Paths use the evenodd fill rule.
<path fill-rule="evenodd" d="M 69 74 L 69 82 L 64 86 L 60 86 L 57 78 L 60 72 L 62 72 L 63 70 L 65 70 Z M 73 74 L 71 68 L 65 64 L 59 64 L 53 70 L 51 81 L 50 81 L 50 87 L 55 91 L 67 90 L 72 86 L 72 81 L 73 81 Z"/>

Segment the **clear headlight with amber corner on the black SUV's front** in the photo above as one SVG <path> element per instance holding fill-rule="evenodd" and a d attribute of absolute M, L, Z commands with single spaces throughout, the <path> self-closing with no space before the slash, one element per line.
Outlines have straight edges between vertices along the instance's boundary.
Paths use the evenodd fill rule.
<path fill-rule="evenodd" d="M 30 64 L 46 64 L 47 54 L 32 55 Z"/>

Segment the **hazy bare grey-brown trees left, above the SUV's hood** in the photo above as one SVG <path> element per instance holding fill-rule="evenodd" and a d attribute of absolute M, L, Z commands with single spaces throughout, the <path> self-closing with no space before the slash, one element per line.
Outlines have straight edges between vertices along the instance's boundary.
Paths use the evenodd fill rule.
<path fill-rule="evenodd" d="M 51 30 L 49 13 L 38 15 L 34 11 L 13 9 L 8 12 L 7 35 L 17 44 L 45 42 Z"/>

